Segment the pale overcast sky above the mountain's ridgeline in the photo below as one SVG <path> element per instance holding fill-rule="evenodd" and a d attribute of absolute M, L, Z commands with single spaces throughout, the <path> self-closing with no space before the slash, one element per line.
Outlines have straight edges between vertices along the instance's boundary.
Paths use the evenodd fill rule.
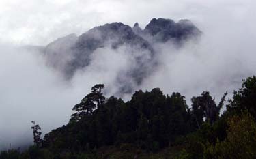
<path fill-rule="evenodd" d="M 255 18 L 255 3 L 253 0 L 1 0 L 0 39 L 44 45 L 63 35 L 79 35 L 113 21 L 128 25 L 139 22 L 145 27 L 154 17 L 189 18 L 202 30 L 212 23 L 228 23 L 230 18 L 246 26 Z"/>

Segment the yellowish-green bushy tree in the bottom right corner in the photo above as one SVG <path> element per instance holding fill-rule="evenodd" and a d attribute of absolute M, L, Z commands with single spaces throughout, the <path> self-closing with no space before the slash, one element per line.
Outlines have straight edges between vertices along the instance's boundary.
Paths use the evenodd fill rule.
<path fill-rule="evenodd" d="M 256 123 L 248 113 L 241 116 L 234 115 L 227 120 L 227 139 L 217 142 L 216 145 L 206 145 L 204 158 L 256 158 Z"/>

